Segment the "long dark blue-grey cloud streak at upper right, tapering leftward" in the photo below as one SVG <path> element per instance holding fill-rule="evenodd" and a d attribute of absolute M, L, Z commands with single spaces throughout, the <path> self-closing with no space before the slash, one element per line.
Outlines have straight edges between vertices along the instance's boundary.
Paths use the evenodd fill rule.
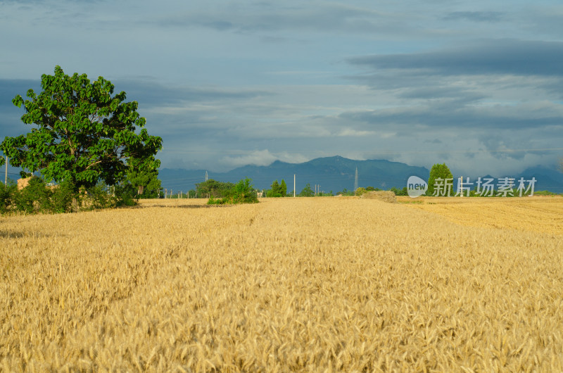
<path fill-rule="evenodd" d="M 348 61 L 373 70 L 407 70 L 420 75 L 562 76 L 563 42 L 486 40 L 440 51 L 363 56 Z"/>

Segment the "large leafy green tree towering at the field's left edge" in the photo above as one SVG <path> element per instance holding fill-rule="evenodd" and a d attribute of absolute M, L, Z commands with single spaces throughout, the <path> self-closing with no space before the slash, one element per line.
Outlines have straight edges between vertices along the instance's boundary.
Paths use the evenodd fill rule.
<path fill-rule="evenodd" d="M 37 128 L 4 138 L 0 149 L 11 165 L 70 182 L 75 195 L 99 180 L 108 185 L 124 180 L 132 163 L 146 172 L 158 169 L 154 156 L 162 139 L 148 134 L 137 101 L 125 102 L 124 91 L 112 96 L 114 86 L 103 77 L 90 82 L 86 74 L 65 75 L 60 66 L 54 75 L 42 75 L 41 87 L 39 94 L 28 90 L 26 100 L 20 95 L 12 100 L 25 108 L 22 121 Z"/>

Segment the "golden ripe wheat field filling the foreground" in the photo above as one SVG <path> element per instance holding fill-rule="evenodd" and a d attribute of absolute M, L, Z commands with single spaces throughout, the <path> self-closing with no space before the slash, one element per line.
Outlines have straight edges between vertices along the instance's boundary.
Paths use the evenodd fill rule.
<path fill-rule="evenodd" d="M 563 371 L 563 198 L 0 217 L 0 370 Z"/>

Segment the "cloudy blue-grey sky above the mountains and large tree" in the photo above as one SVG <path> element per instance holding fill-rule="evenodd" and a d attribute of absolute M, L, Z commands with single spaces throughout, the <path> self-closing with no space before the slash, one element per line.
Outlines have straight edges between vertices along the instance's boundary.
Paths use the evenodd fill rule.
<path fill-rule="evenodd" d="M 139 102 L 161 167 L 563 156 L 560 1 L 0 0 L 0 139 L 56 65 Z"/>

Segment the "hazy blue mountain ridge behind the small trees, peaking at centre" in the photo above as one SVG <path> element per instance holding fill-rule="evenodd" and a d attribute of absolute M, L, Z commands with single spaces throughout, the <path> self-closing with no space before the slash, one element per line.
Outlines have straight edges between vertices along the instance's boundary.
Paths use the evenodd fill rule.
<path fill-rule="evenodd" d="M 306 184 L 315 189 L 329 192 L 353 190 L 355 170 L 358 167 L 358 186 L 388 189 L 397 187 L 402 189 L 407 185 L 407 179 L 412 176 L 428 179 L 429 170 L 425 167 L 415 167 L 405 163 L 389 160 L 352 160 L 341 156 L 316 158 L 304 163 L 285 163 L 276 160 L 268 166 L 246 165 L 228 172 L 208 172 L 209 179 L 220 182 L 238 182 L 244 177 L 252 179 L 257 189 L 270 189 L 272 182 L 284 179 L 287 191 L 293 191 L 293 175 L 296 175 L 296 191 L 300 192 Z M 158 174 L 164 188 L 173 191 L 188 191 L 195 189 L 195 184 L 205 180 L 205 170 L 160 169 Z"/>

